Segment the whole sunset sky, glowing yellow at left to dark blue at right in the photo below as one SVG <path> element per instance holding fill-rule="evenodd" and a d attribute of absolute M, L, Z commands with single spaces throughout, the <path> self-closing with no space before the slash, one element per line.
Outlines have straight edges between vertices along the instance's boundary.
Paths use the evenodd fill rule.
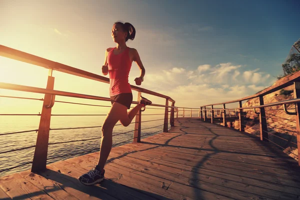
<path fill-rule="evenodd" d="M 101 75 L 105 49 L 115 46 L 112 24 L 130 22 L 136 36 L 127 45 L 137 49 L 146 70 L 141 86 L 172 97 L 177 106 L 199 107 L 272 85 L 300 37 L 299 8 L 298 0 L 0 0 L 0 44 Z M 0 82 L 44 88 L 47 74 L 42 67 L 0 57 Z M 138 75 L 132 63 L 129 82 L 135 84 Z M 56 90 L 109 97 L 106 83 L 57 71 L 53 76 Z M 5 89 L 0 95 L 43 97 Z M 10 98 L 0 103 L 0 112 L 7 113 L 41 108 Z M 95 111 L 62 104 L 53 109 Z"/>

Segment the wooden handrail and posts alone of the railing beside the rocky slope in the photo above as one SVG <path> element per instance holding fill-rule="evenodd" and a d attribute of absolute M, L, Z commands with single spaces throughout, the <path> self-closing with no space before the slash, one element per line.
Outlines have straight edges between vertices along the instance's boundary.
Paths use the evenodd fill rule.
<path fill-rule="evenodd" d="M 287 86 L 293 85 L 293 99 L 288 99 L 288 100 L 283 100 L 283 101 L 278 101 L 274 103 L 269 103 L 265 104 L 263 97 L 267 94 L 270 94 L 272 92 L 278 91 L 280 89 L 283 89 Z M 253 99 L 253 98 L 258 98 L 259 105 L 257 106 L 251 106 L 251 107 L 242 107 L 242 101 Z M 231 108 L 226 108 L 227 104 L 230 103 L 238 103 L 237 107 L 231 107 Z M 294 111 L 288 111 L 287 110 L 287 105 L 288 104 L 294 104 Z M 221 105 L 222 108 L 215 108 L 215 105 Z M 255 114 L 258 115 L 259 117 L 259 131 L 260 131 L 260 139 L 262 141 L 266 142 L 272 142 L 269 139 L 269 132 L 267 128 L 267 117 L 266 117 L 266 112 L 265 112 L 265 107 L 271 107 L 271 106 L 276 106 L 276 105 L 282 105 L 282 109 L 286 114 L 289 115 L 295 115 L 295 124 L 296 124 L 296 143 L 293 142 L 293 144 L 296 144 L 297 149 L 298 149 L 298 158 L 300 157 L 300 71 L 295 72 L 293 74 L 289 74 L 280 80 L 276 81 L 276 83 L 260 92 L 257 92 L 254 95 L 246 96 L 237 100 L 231 100 L 231 101 L 226 101 L 226 102 L 221 102 L 221 103 L 212 103 L 212 104 L 207 104 L 207 105 L 202 105 L 200 106 L 200 114 L 199 117 L 203 119 L 204 121 L 207 121 L 207 112 L 210 112 L 211 117 L 210 117 L 210 122 L 213 123 L 215 122 L 214 116 L 215 112 L 219 112 L 222 114 L 220 124 L 223 126 L 227 126 L 226 119 L 226 112 L 229 112 L 229 118 L 236 117 L 238 114 L 238 123 L 239 123 L 239 131 L 244 131 L 245 129 L 245 124 L 244 124 L 244 119 L 245 119 L 245 110 L 252 109 Z M 257 112 L 259 110 L 259 112 Z M 179 111 L 179 110 L 178 110 Z M 230 116 L 231 114 L 231 116 Z M 184 114 L 183 114 L 184 115 Z M 230 126 L 230 125 L 229 125 Z M 275 135 L 276 136 L 276 135 Z M 277 136 L 278 137 L 278 136 Z M 274 143 L 274 142 L 272 142 Z M 274 143 L 275 145 L 278 145 Z M 283 147 L 284 149 L 284 147 Z M 300 165 L 300 159 L 298 159 L 298 163 Z"/>

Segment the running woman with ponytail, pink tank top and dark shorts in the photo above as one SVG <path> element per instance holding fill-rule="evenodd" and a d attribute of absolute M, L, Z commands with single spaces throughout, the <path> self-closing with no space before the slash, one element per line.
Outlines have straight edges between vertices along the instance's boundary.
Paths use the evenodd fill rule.
<path fill-rule="evenodd" d="M 109 96 L 111 108 L 102 124 L 102 138 L 98 163 L 87 173 L 78 177 L 84 185 L 93 185 L 104 179 L 104 165 L 112 146 L 112 130 L 117 121 L 123 126 L 128 126 L 138 110 L 152 102 L 141 96 L 139 104 L 130 109 L 132 92 L 128 82 L 128 75 L 132 61 L 135 61 L 140 70 L 140 76 L 135 78 L 135 83 L 140 85 L 145 75 L 145 69 L 134 48 L 126 45 L 128 39 L 133 40 L 135 28 L 130 23 L 115 22 L 112 25 L 111 37 L 116 47 L 107 48 L 102 74 L 109 73 Z M 130 109 L 127 112 L 127 109 Z"/>

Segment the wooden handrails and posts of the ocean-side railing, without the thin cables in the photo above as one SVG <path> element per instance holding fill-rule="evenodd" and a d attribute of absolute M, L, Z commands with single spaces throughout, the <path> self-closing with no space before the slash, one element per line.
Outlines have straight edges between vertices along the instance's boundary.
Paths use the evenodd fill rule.
<path fill-rule="evenodd" d="M 10 90 L 18 90 L 18 91 L 26 91 L 26 92 L 34 92 L 34 93 L 42 93 L 44 94 L 44 98 L 40 99 L 43 101 L 42 110 L 40 114 L 40 121 L 36 139 L 36 145 L 34 150 L 34 156 L 32 161 L 31 171 L 40 171 L 46 168 L 47 162 L 47 152 L 48 152 L 48 141 L 49 141 L 49 130 L 50 130 L 50 119 L 51 119 L 51 108 L 55 102 L 55 96 L 69 96 L 75 98 L 85 98 L 85 99 L 94 99 L 94 100 L 102 100 L 102 101 L 110 101 L 110 98 L 102 97 L 102 96 L 93 96 L 81 93 L 72 93 L 67 91 L 59 91 L 54 90 L 54 77 L 52 76 L 53 70 L 73 74 L 76 76 L 101 81 L 105 83 L 109 83 L 109 78 L 103 77 L 94 73 L 90 73 L 88 71 L 84 71 L 78 68 L 74 68 L 65 64 L 61 64 L 58 62 L 54 62 L 42 57 L 38 57 L 26 52 L 22 52 L 13 48 L 9 48 L 7 46 L 0 45 L 0 56 L 4 56 L 7 58 L 19 60 L 22 62 L 30 63 L 33 65 L 45 67 L 49 70 L 48 79 L 46 88 L 25 86 L 25 85 L 17 85 L 11 83 L 0 82 L 0 88 L 2 89 L 10 89 Z M 133 104 L 137 104 L 141 93 L 146 93 L 154 96 L 158 96 L 165 99 L 165 104 L 155 104 L 152 103 L 151 106 L 154 107 L 163 107 L 164 109 L 164 123 L 163 123 L 163 131 L 168 131 L 168 113 L 170 112 L 169 123 L 171 126 L 174 125 L 174 112 L 176 112 L 177 108 L 175 107 L 175 101 L 167 96 L 163 95 L 145 88 L 141 88 L 135 85 L 130 85 L 132 90 L 136 90 L 138 92 L 137 101 L 133 101 Z M 169 101 L 171 105 L 169 105 Z M 140 142 L 141 136 L 141 115 L 143 110 L 139 110 L 135 117 L 134 125 L 134 133 L 133 133 L 133 142 Z M 18 133 L 18 132 L 17 132 Z M 10 133 L 5 133 L 10 134 Z M 31 146 L 32 147 L 32 146 Z"/>

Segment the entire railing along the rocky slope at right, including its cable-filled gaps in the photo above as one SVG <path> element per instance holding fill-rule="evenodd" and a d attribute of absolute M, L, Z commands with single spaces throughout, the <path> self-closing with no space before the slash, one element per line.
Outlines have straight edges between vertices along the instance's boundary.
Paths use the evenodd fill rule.
<path fill-rule="evenodd" d="M 300 148 L 300 71 L 287 75 L 272 86 L 237 100 L 213 103 L 199 107 L 199 117 L 203 121 L 218 123 L 239 131 L 259 132 L 260 140 L 270 142 L 284 152 L 299 160 Z M 267 94 L 277 92 L 287 86 L 293 86 L 293 98 L 277 102 L 264 103 Z M 282 94 L 283 95 L 283 94 Z M 242 102 L 253 99 L 251 106 Z M 255 99 L 255 100 L 254 100 Z M 238 107 L 227 108 L 231 103 Z M 258 104 L 258 105 L 257 105 Z M 222 108 L 214 106 L 221 105 Z M 217 114 L 215 114 L 217 113 Z M 184 114 L 183 114 L 184 116 Z M 254 131 L 254 132 L 253 132 Z"/>

